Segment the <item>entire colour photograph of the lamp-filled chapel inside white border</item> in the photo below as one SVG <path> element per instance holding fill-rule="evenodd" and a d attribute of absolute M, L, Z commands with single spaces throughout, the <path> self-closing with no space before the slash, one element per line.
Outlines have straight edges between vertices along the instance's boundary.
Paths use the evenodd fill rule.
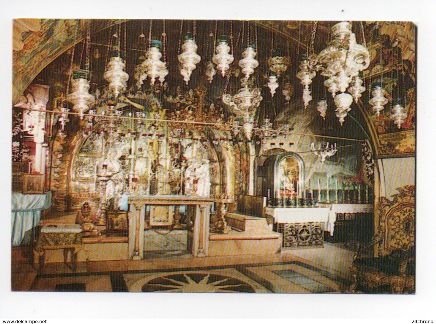
<path fill-rule="evenodd" d="M 415 294 L 416 33 L 14 19 L 10 290 Z"/>

